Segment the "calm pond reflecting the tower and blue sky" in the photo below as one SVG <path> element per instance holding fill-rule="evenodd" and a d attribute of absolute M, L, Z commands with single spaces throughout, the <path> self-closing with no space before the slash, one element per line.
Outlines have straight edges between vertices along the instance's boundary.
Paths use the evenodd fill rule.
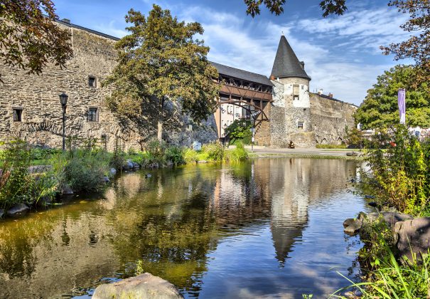
<path fill-rule="evenodd" d="M 0 298 L 89 298 L 144 271 L 185 297 L 314 298 L 357 272 L 358 163 L 255 159 L 123 174 L 103 196 L 0 221 Z M 151 177 L 146 174 L 151 174 Z"/>

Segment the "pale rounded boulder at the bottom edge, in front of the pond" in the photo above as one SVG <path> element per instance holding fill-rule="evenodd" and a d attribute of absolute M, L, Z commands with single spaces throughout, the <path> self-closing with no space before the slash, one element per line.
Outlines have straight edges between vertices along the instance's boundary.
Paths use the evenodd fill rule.
<path fill-rule="evenodd" d="M 99 285 L 92 299 L 110 298 L 183 298 L 175 285 L 149 273 L 115 283 Z"/>

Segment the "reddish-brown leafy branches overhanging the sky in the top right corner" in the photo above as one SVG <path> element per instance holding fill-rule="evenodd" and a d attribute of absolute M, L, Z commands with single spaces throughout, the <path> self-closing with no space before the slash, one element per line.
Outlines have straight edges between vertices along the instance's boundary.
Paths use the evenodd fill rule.
<path fill-rule="evenodd" d="M 401 28 L 412 35 L 407 41 L 382 46 L 386 55 L 394 54 L 399 61 L 412 58 L 416 67 L 416 83 L 430 80 L 430 1 L 429 0 L 395 0 L 389 1 L 389 6 L 395 6 L 400 12 L 409 14 L 409 20 Z"/>

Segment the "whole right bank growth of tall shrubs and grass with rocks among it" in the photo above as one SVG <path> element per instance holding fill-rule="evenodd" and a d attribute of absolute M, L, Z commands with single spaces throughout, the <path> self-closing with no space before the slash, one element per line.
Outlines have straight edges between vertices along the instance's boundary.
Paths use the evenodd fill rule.
<path fill-rule="evenodd" d="M 370 172 L 357 187 L 372 193 L 376 211 L 344 222 L 345 232 L 365 243 L 359 252 L 364 280 L 350 287 L 364 298 L 430 298 L 429 140 L 420 142 L 404 125 L 373 140 Z"/>

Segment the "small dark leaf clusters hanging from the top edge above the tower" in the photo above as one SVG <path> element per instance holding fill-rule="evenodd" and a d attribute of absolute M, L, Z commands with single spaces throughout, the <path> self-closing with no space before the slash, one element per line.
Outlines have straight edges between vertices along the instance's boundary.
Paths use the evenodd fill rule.
<path fill-rule="evenodd" d="M 284 4 L 286 0 L 244 0 L 247 6 L 247 14 L 250 14 L 253 18 L 260 14 L 260 6 L 264 6 L 269 9 L 272 14 L 279 16 L 284 12 Z M 323 0 L 320 2 L 320 7 L 323 10 L 323 16 L 326 17 L 330 14 L 341 15 L 346 11 L 345 6 L 346 0 Z"/>

